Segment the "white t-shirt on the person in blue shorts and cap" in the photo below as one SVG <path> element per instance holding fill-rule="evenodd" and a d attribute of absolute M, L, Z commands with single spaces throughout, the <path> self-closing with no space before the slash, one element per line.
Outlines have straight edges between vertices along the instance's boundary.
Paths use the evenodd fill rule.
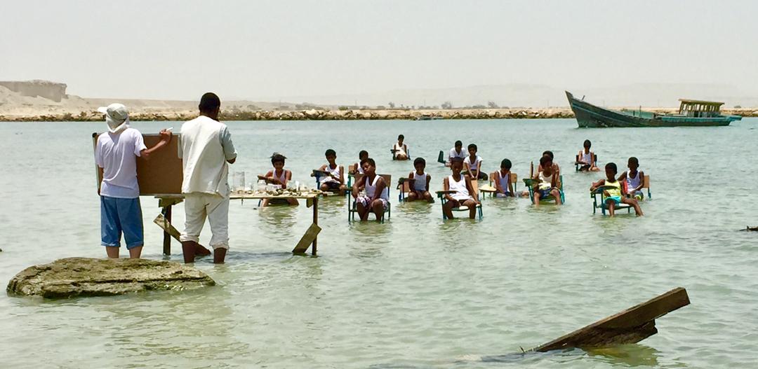
<path fill-rule="evenodd" d="M 100 194 L 107 197 L 133 199 L 139 197 L 137 157 L 145 150 L 142 134 L 127 128 L 118 133 L 98 136 L 95 163 L 103 169 Z"/>

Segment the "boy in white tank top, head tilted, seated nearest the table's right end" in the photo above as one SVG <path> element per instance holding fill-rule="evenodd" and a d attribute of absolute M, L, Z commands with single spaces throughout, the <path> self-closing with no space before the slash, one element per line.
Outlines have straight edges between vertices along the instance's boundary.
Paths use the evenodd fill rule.
<path fill-rule="evenodd" d="M 373 159 L 366 158 L 361 163 L 364 175 L 352 186 L 352 197 L 356 199 L 356 210 L 361 222 L 368 221 L 368 213 L 374 212 L 377 222 L 384 217 L 384 209 L 390 204 L 390 189 L 387 188 L 384 178 L 377 175 L 376 163 Z M 365 195 L 359 196 L 360 191 L 366 191 Z"/>

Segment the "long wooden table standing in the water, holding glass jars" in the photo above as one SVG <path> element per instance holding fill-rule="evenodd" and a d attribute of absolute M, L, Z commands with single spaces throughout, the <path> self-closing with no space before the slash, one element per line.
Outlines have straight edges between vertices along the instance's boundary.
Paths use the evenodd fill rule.
<path fill-rule="evenodd" d="M 166 221 L 168 223 L 171 223 L 171 206 L 176 205 L 177 203 L 181 203 L 184 200 L 183 194 L 156 194 L 155 198 L 158 199 L 158 206 L 161 207 L 161 214 L 164 216 Z M 318 231 L 321 231 L 321 228 L 318 228 L 318 194 L 302 194 L 302 195 L 280 195 L 280 196 L 274 196 L 274 195 L 268 195 L 268 194 L 245 194 L 240 192 L 233 192 L 229 196 L 229 200 L 271 200 L 271 199 L 299 199 L 299 200 L 305 200 L 305 205 L 308 207 L 313 207 L 313 224 L 311 225 L 311 228 L 309 228 L 309 231 L 305 232 L 305 235 L 303 235 L 303 240 L 305 240 L 305 237 L 309 236 L 309 233 L 315 233 L 312 234 L 313 241 L 311 243 L 311 255 L 316 256 L 317 247 L 318 247 Z M 312 229 L 318 228 L 318 231 L 312 231 Z M 298 245 L 300 246 L 300 245 Z M 296 247 L 295 250 L 298 250 L 299 247 Z M 293 250 L 293 252 L 295 251 Z M 307 250 L 307 247 L 306 247 Z M 163 254 L 164 255 L 171 255 L 171 233 L 169 233 L 168 230 L 163 231 Z"/>

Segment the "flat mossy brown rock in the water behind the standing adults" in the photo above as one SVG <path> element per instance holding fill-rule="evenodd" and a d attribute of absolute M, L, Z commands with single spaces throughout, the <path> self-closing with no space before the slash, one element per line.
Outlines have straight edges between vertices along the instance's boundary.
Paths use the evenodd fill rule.
<path fill-rule="evenodd" d="M 8 282 L 8 295 L 64 298 L 148 290 L 193 290 L 215 285 L 208 274 L 176 262 L 66 258 L 34 265 Z"/>

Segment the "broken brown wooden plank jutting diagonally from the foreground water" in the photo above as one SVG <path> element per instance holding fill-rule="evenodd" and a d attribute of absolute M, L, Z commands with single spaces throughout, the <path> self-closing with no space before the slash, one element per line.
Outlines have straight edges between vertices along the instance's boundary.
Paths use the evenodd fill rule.
<path fill-rule="evenodd" d="M 658 333 L 656 318 L 689 304 L 690 298 L 687 295 L 687 290 L 678 287 L 647 302 L 632 306 L 623 312 L 545 343 L 532 349 L 532 351 L 547 352 L 573 347 L 587 348 L 637 343 Z"/>

